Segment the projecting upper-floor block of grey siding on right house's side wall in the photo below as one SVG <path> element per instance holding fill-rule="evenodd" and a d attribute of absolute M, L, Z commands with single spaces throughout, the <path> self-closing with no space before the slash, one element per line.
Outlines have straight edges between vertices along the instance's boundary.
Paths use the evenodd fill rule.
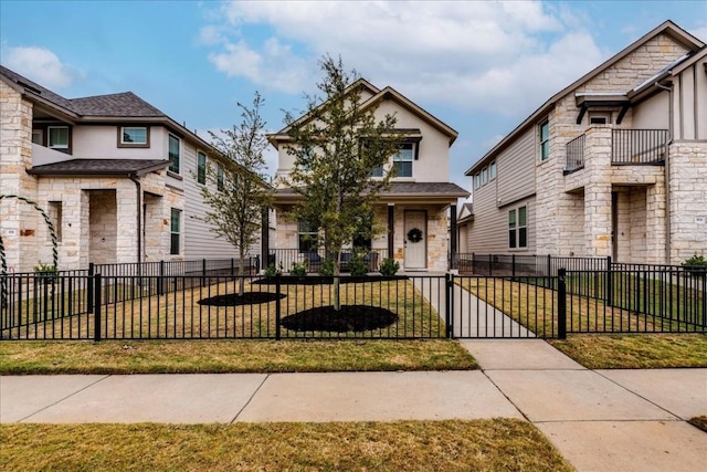
<path fill-rule="evenodd" d="M 530 127 L 496 158 L 500 204 L 535 193 L 535 138 L 536 128 Z"/>

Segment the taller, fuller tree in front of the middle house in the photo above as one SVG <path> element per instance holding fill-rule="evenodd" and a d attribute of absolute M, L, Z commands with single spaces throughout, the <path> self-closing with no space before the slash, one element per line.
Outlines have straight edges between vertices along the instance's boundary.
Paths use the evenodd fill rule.
<path fill-rule="evenodd" d="M 389 186 L 391 171 L 371 179 L 374 168 L 386 166 L 403 138 L 394 133 L 395 117 L 376 118 L 376 106 L 361 103 L 356 71 L 346 72 L 341 59 L 325 56 L 324 78 L 317 84 L 321 98 L 307 97 L 302 118 L 287 114 L 291 138 L 287 151 L 294 167 L 287 185 L 304 199 L 291 212 L 323 235 L 334 275 L 340 274 L 341 249 L 356 235 L 371 232 L 372 203 Z M 340 310 L 339 280 L 335 277 L 334 306 Z"/>

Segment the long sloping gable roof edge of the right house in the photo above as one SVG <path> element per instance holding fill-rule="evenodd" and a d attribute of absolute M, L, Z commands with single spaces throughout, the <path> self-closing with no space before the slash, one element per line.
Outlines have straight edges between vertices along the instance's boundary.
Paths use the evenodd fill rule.
<path fill-rule="evenodd" d="M 555 104 L 560 98 L 564 97 L 566 95 L 571 93 L 574 88 L 579 87 L 583 83 L 594 78 L 597 75 L 602 73 L 604 70 L 611 67 L 612 65 L 614 65 L 615 63 L 618 63 L 619 61 L 621 61 L 625 56 L 632 54 L 639 48 L 641 48 L 643 44 L 645 44 L 647 41 L 650 41 L 651 39 L 655 38 L 658 34 L 666 34 L 666 35 L 671 36 L 674 41 L 676 41 L 677 43 L 679 43 L 679 44 L 684 45 L 686 49 L 688 49 L 692 53 L 705 48 L 705 43 L 703 41 L 700 41 L 699 39 L 693 36 L 692 34 L 689 34 L 687 31 L 683 30 L 682 28 L 679 28 L 673 21 L 671 21 L 671 20 L 664 21 L 663 23 L 658 24 L 656 28 L 654 28 L 653 30 L 648 31 L 643 36 L 639 38 L 636 41 L 631 43 L 629 46 L 626 46 L 623 50 L 621 50 L 619 53 L 616 53 L 613 56 L 609 57 L 606 61 L 601 63 L 599 66 L 594 67 L 593 70 L 591 70 L 587 74 L 582 75 L 577 81 L 572 82 L 567 87 L 562 88 L 560 92 L 558 92 L 555 95 L 552 95 L 547 102 L 545 102 L 530 116 L 528 116 L 525 120 L 523 120 L 514 130 L 511 130 L 508 135 L 506 135 L 506 137 L 504 137 L 500 141 L 498 141 L 498 144 L 496 144 L 496 146 L 494 146 L 481 159 L 478 159 L 472 167 L 469 167 L 466 170 L 466 172 L 464 172 L 464 175 L 465 176 L 473 175 L 475 169 L 478 166 L 483 165 L 483 162 L 486 161 L 486 159 L 490 158 L 490 156 L 495 155 L 496 153 L 498 153 L 499 150 L 505 148 L 507 145 L 513 143 L 513 140 L 515 139 L 515 137 L 518 134 L 520 134 L 521 132 L 527 129 L 528 126 L 534 125 L 542 115 L 546 115 L 547 113 L 549 113 L 549 111 L 555 106 Z"/>

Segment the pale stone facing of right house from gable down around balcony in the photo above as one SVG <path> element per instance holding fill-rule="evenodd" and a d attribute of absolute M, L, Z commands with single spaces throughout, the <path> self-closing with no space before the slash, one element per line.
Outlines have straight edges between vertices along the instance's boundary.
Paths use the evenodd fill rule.
<path fill-rule="evenodd" d="M 584 124 L 577 125 L 576 123 L 579 109 L 576 105 L 574 93 L 626 92 L 686 52 L 686 49 L 675 43 L 669 36 L 659 34 L 557 102 L 555 108 L 547 116 L 550 127 L 550 157 L 546 161 L 540 161 L 539 157 L 536 157 L 536 224 L 537 252 L 539 254 L 569 255 L 577 247 L 577 241 L 563 238 L 564 234 L 572 233 L 572 228 L 577 225 L 577 211 L 574 210 L 577 199 L 564 191 L 566 178 L 562 175 L 567 157 L 567 143 L 584 133 L 587 127 Z M 629 111 L 621 127 L 630 128 L 631 122 L 632 113 Z M 540 122 L 537 123 L 537 125 L 539 124 Z M 590 146 L 591 129 L 590 127 L 585 137 L 585 148 Z M 537 143 L 538 138 L 536 138 L 536 147 L 538 147 Z M 590 182 L 584 187 L 587 240 L 584 241 L 584 253 L 576 253 L 574 255 L 605 256 L 611 254 L 611 170 L 605 167 L 605 158 L 610 159 L 611 157 L 611 143 L 609 143 L 608 156 L 600 156 L 605 154 L 606 143 L 599 143 L 599 146 L 602 149 L 593 153 L 591 159 L 585 159 L 585 169 L 582 170 L 582 172 L 589 171 L 590 161 L 598 159 L 599 161 L 594 162 L 593 171 L 603 170 L 603 172 L 592 174 Z M 539 149 L 536 156 L 539 156 Z M 659 189 L 650 192 L 647 197 L 648 214 L 654 208 L 659 208 Z M 654 214 L 657 218 L 657 213 Z M 659 230 L 656 229 L 655 232 L 659 237 Z M 657 256 L 659 241 L 652 244 L 648 253 Z"/>

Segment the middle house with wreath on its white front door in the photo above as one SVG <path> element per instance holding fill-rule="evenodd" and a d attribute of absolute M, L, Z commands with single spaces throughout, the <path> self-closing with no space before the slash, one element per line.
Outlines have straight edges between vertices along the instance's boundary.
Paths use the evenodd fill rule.
<path fill-rule="evenodd" d="M 449 240 L 447 211 L 454 228 L 457 198 L 468 197 L 466 190 L 449 181 L 450 147 L 457 133 L 391 87 L 379 90 L 365 80 L 355 84 L 358 85 L 362 87 L 362 107 L 374 107 L 378 119 L 394 114 L 397 128 L 404 133 L 405 140 L 390 162 L 397 167 L 397 177 L 391 180 L 390 189 L 380 195 L 373 210 L 372 224 L 383 231 L 372 240 L 358 241 L 357 247 L 370 249 L 374 254 L 370 259 L 372 270 L 383 258 L 391 256 L 405 271 L 445 271 L 449 247 L 455 248 L 456 243 L 456 238 Z M 270 136 L 271 144 L 278 150 L 281 182 L 294 166 L 294 157 L 287 154 L 287 132 L 284 128 Z M 312 231 L 302 221 L 289 221 L 285 216 L 299 198 L 282 185 L 275 195 L 277 235 L 271 252 L 275 254 L 275 262 L 283 262 L 285 270 L 293 261 L 305 258 L 316 265 L 313 253 L 323 254 L 316 243 L 316 230 Z M 413 229 L 420 230 L 421 239 L 416 242 L 408 238 Z M 456 230 L 452 233 L 456 235 Z M 342 258 L 348 255 L 350 252 Z"/>

